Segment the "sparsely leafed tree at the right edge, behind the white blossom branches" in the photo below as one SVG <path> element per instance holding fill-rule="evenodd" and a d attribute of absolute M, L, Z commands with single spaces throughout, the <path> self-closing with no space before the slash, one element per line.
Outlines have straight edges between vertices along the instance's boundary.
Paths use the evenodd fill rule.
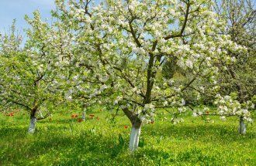
<path fill-rule="evenodd" d="M 238 110 L 236 115 L 240 117 L 239 133 L 246 133 L 244 120 L 251 122 L 250 111 L 254 109 L 253 97 L 255 98 L 255 9 L 254 1 L 223 0 L 216 3 L 216 11 L 221 17 L 227 19 L 227 27 L 223 33 L 231 36 L 231 40 L 240 46 L 247 48 L 247 53 L 232 53 L 233 61 L 223 69 L 223 78 L 220 83 L 223 85 L 222 93 L 236 93 L 234 99 L 240 103 L 243 111 Z M 255 100 L 255 99 L 254 99 Z M 252 103 L 254 102 L 254 103 Z"/>

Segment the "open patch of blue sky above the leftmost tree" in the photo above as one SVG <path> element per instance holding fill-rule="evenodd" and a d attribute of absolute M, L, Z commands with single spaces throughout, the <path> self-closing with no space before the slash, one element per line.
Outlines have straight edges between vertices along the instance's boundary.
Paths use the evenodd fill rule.
<path fill-rule="evenodd" d="M 50 18 L 54 0 L 0 0 L 0 32 L 8 32 L 13 19 L 16 19 L 19 31 L 26 29 L 28 24 L 24 20 L 24 15 L 32 15 L 36 9 L 43 18 Z"/>

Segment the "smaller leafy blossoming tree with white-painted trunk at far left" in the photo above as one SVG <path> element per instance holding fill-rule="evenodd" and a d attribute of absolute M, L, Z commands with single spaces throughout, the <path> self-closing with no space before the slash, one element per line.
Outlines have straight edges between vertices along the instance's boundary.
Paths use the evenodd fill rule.
<path fill-rule="evenodd" d="M 57 99 L 57 53 L 55 43 L 60 43 L 56 30 L 40 19 L 39 12 L 27 21 L 31 29 L 27 30 L 27 41 L 21 46 L 19 36 L 15 36 L 12 25 L 10 36 L 1 39 L 0 57 L 0 99 L 3 107 L 22 107 L 29 111 L 29 133 L 34 133 L 39 110 L 47 110 L 50 102 Z"/>

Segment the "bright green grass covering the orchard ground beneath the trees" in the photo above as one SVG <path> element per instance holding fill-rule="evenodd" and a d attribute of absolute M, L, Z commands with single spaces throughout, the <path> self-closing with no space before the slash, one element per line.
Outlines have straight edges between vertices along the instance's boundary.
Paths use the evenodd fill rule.
<path fill-rule="evenodd" d="M 235 117 L 206 123 L 188 115 L 174 125 L 162 114 L 144 125 L 140 147 L 130 154 L 127 118 L 111 121 L 97 109 L 94 114 L 99 120 L 78 123 L 71 113 L 54 113 L 36 124 L 34 135 L 26 133 L 28 115 L 1 114 L 0 165 L 256 165 L 255 126 L 242 136 Z"/>

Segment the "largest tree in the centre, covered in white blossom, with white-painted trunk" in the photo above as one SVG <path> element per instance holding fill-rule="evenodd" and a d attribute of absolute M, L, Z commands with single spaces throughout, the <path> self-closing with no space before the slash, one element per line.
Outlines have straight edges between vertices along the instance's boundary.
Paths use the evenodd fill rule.
<path fill-rule="evenodd" d="M 138 147 L 142 124 L 154 118 L 157 108 L 184 111 L 181 95 L 189 85 L 201 76 L 214 83 L 218 70 L 213 63 L 229 59 L 226 49 L 240 49 L 220 35 L 223 22 L 216 21 L 208 1 L 56 2 L 62 22 L 74 29 L 77 66 L 82 60 L 93 70 L 86 81 L 98 77 L 97 86 L 110 92 L 97 100 L 119 107 L 129 118 L 131 151 Z M 173 86 L 164 79 L 161 69 L 168 59 L 177 59 L 178 66 L 193 73 L 187 83 Z"/>

